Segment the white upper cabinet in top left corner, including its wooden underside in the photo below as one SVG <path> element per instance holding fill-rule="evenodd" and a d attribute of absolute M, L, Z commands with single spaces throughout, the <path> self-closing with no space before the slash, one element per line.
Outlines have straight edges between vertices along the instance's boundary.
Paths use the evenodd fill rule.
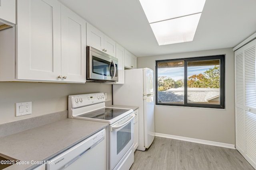
<path fill-rule="evenodd" d="M 0 0 L 0 30 L 16 23 L 16 0 Z"/>

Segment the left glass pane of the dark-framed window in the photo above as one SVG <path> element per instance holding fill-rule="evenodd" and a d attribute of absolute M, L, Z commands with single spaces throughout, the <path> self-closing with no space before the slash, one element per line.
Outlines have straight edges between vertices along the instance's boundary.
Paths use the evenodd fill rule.
<path fill-rule="evenodd" d="M 158 103 L 184 104 L 184 61 L 158 63 Z"/>

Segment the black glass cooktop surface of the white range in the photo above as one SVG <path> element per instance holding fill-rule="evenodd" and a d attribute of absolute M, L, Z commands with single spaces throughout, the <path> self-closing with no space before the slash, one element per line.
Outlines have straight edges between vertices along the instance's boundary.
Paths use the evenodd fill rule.
<path fill-rule="evenodd" d="M 84 113 L 82 115 L 78 115 L 78 117 L 87 117 L 87 118 L 102 119 L 102 120 L 111 120 L 115 117 L 118 117 L 119 115 L 122 115 L 123 113 L 125 113 L 127 111 L 129 111 L 129 109 L 105 107 L 105 108 L 102 108 L 102 109 L 98 109 L 98 110 L 95 110 L 95 111 Z"/>

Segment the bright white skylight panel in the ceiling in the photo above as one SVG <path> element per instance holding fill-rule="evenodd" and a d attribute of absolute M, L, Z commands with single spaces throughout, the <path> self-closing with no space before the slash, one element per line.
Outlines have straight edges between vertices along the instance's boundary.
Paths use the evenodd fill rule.
<path fill-rule="evenodd" d="M 205 0 L 140 0 L 158 45 L 193 41 Z"/>

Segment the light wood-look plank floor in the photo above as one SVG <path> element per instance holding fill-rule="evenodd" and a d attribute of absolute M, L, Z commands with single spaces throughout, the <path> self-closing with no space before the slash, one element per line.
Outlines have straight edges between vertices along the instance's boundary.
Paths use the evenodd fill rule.
<path fill-rule="evenodd" d="M 235 149 L 155 137 L 146 151 L 134 152 L 130 170 L 254 170 Z"/>

